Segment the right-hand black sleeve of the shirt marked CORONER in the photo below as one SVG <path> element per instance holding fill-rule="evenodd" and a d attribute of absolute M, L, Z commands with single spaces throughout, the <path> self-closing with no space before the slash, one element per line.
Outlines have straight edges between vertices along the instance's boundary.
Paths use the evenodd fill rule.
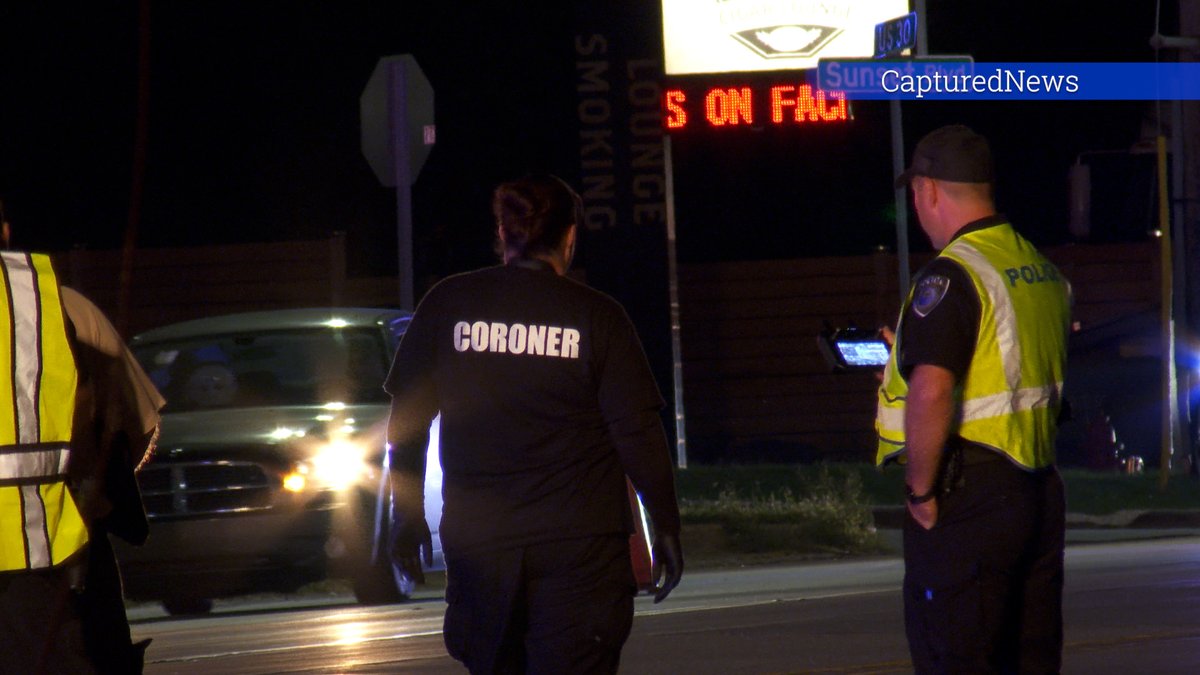
<path fill-rule="evenodd" d="M 625 474 L 641 495 L 655 532 L 678 534 L 674 473 L 659 418 L 662 396 L 624 310 L 618 307 L 610 323 L 608 339 L 596 354 L 600 410 Z"/>

